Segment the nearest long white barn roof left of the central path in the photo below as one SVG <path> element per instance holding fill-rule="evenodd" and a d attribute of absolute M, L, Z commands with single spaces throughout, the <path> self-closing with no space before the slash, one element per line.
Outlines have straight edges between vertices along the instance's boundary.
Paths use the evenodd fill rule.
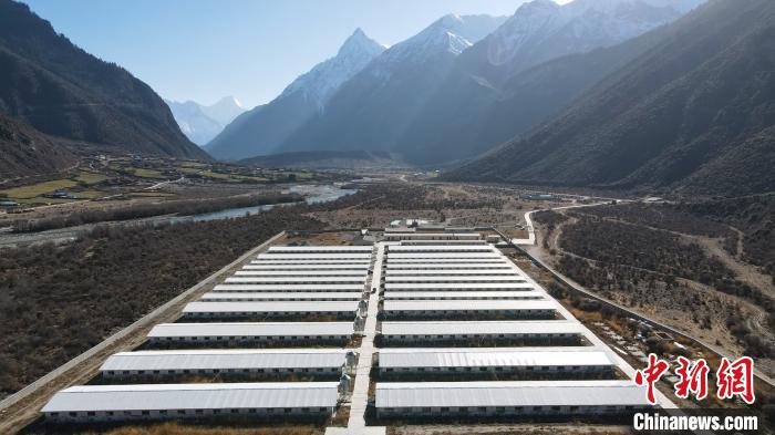
<path fill-rule="evenodd" d="M 333 407 L 337 382 L 84 385 L 62 390 L 42 412 Z"/>

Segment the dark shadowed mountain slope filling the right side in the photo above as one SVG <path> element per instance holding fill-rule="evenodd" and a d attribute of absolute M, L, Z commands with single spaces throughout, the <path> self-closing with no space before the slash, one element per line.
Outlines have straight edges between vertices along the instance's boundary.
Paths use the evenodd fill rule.
<path fill-rule="evenodd" d="M 711 0 L 551 123 L 448 179 L 775 188 L 775 2 Z"/>

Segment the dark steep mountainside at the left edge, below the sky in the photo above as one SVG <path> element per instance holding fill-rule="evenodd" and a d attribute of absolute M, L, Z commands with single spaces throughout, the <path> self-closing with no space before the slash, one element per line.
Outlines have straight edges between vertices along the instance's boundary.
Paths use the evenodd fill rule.
<path fill-rule="evenodd" d="M 56 136 L 209 158 L 145 83 L 73 45 L 11 0 L 0 0 L 0 113 Z"/>

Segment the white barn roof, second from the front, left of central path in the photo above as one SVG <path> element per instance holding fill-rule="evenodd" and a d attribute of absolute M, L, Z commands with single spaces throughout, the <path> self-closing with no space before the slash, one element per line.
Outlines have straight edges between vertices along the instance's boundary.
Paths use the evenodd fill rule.
<path fill-rule="evenodd" d="M 120 352 L 100 367 L 107 371 L 339 367 L 345 349 L 224 349 Z"/>

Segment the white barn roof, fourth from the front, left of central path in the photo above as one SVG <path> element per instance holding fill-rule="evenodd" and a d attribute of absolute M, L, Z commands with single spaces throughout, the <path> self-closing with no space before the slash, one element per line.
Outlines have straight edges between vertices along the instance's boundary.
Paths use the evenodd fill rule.
<path fill-rule="evenodd" d="M 189 302 L 183 313 L 355 312 L 356 309 L 358 301 Z"/>

